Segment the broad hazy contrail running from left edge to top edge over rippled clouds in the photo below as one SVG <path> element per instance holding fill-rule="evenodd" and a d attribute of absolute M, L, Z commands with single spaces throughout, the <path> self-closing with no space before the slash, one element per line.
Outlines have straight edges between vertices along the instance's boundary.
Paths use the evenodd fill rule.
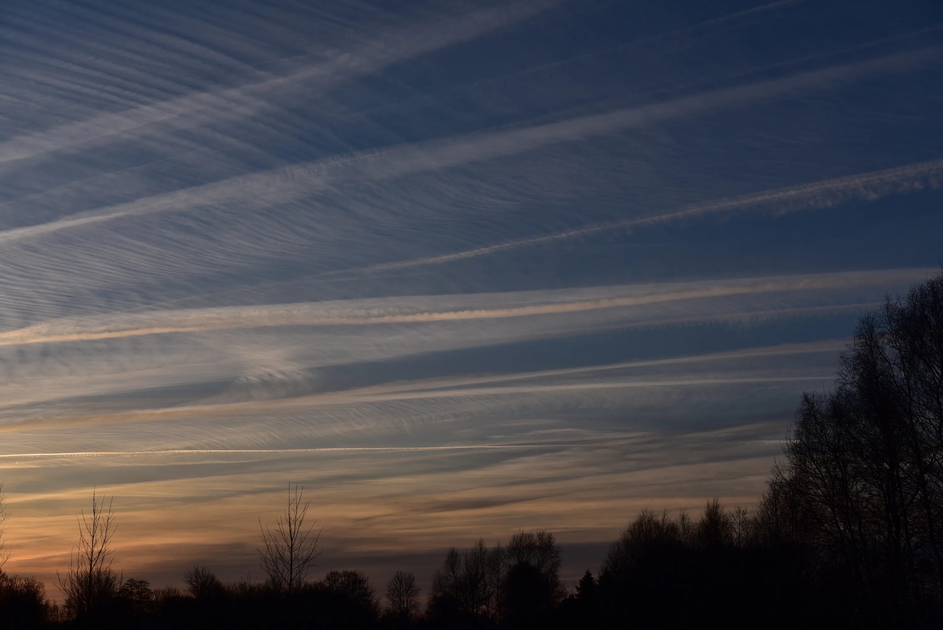
<path fill-rule="evenodd" d="M 92 141 L 125 135 L 152 124 L 174 127 L 205 124 L 221 118 L 232 120 L 259 113 L 273 105 L 273 92 L 309 83 L 307 89 L 327 89 L 339 81 L 369 75 L 393 63 L 413 58 L 488 31 L 527 19 L 559 0 L 517 2 L 500 9 L 482 9 L 471 14 L 422 25 L 401 32 L 372 34 L 369 43 L 356 51 L 336 51 L 327 59 L 309 64 L 289 75 L 220 91 L 201 91 L 155 105 L 94 116 L 40 133 L 13 138 L 0 144 L 0 163 L 74 148 Z M 317 83 L 310 84 L 316 81 Z"/>

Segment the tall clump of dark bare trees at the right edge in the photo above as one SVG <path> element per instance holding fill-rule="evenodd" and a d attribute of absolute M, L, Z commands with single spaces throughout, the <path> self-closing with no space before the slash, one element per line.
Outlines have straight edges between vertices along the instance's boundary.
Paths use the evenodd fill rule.
<path fill-rule="evenodd" d="M 943 606 L 943 274 L 859 320 L 835 390 L 803 394 L 784 451 L 764 536 L 798 503 L 783 514 L 811 525 L 863 611 Z"/>

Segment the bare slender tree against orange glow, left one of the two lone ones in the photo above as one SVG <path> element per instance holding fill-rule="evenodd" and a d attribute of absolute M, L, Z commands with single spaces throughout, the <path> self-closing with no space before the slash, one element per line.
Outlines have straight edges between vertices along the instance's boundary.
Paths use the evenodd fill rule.
<path fill-rule="evenodd" d="M 111 539 L 118 522 L 111 510 L 112 499 L 98 500 L 91 494 L 91 514 L 82 510 L 78 521 L 78 544 L 69 559 L 65 575 L 57 572 L 58 588 L 65 597 L 65 606 L 74 618 L 94 616 L 108 604 L 121 587 L 122 578 L 111 568 Z"/>

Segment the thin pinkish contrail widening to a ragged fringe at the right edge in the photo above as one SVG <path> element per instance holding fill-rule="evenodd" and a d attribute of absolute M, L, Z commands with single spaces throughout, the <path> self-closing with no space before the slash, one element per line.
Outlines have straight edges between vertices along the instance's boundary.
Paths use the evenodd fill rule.
<path fill-rule="evenodd" d="M 507 242 L 498 243 L 497 245 L 488 245 L 487 247 L 478 247 L 465 250 L 464 252 L 455 252 L 455 254 L 380 263 L 351 270 L 331 272 L 329 274 L 384 272 L 409 267 L 420 267 L 423 265 L 435 265 L 452 262 L 454 260 L 488 256 L 489 254 L 497 254 L 498 252 L 504 252 L 518 247 L 541 245 L 556 240 L 578 239 L 600 232 L 673 223 L 685 221 L 686 219 L 695 219 L 704 215 L 720 214 L 748 208 L 786 213 L 821 207 L 834 207 L 850 199 L 872 201 L 895 193 L 918 191 L 923 188 L 938 189 L 941 185 L 943 185 L 943 158 L 906 164 L 904 166 L 881 171 L 871 171 L 869 173 L 853 174 L 845 177 L 824 179 L 818 182 L 787 186 L 786 188 L 737 195 L 736 197 L 724 197 L 722 199 L 691 204 L 671 212 L 649 217 L 587 225 L 586 227 L 557 232 L 556 234 L 549 234 L 547 236 L 509 240 Z"/>

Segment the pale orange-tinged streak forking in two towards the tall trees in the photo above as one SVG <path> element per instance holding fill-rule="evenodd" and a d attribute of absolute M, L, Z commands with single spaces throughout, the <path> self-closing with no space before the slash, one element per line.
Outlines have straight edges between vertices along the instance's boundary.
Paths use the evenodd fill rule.
<path fill-rule="evenodd" d="M 761 375 L 757 373 L 757 370 L 760 366 L 766 365 L 766 360 L 769 358 L 835 353 L 840 349 L 841 344 L 842 342 L 839 340 L 825 340 L 812 343 L 748 348 L 706 355 L 627 361 L 614 364 L 590 365 L 579 368 L 545 370 L 529 373 L 432 378 L 405 383 L 392 382 L 359 387 L 353 390 L 326 391 L 322 393 L 298 394 L 297 392 L 287 392 L 282 393 L 280 396 L 263 398 L 261 400 L 232 401 L 231 399 L 222 398 L 200 401 L 185 406 L 137 409 L 115 413 L 103 411 L 102 413 L 94 413 L 91 415 L 79 412 L 79 415 L 76 416 L 76 409 L 68 408 L 67 410 L 63 409 L 59 411 L 49 410 L 53 411 L 52 416 L 50 416 L 49 411 L 47 411 L 46 413 L 41 413 L 39 417 L 34 416 L 32 419 L 25 418 L 22 414 L 10 416 L 9 420 L 12 420 L 13 423 L 8 423 L 6 428 L 11 430 L 30 430 L 43 428 L 44 426 L 48 427 L 50 422 L 56 423 L 55 416 L 62 412 L 65 413 L 62 417 L 64 419 L 63 425 L 69 425 L 72 423 L 141 423 L 150 420 L 173 420 L 183 418 L 236 418 L 246 415 L 259 418 L 267 417 L 268 414 L 272 413 L 291 412 L 292 409 L 299 408 L 306 409 L 306 414 L 310 414 L 315 409 L 321 409 L 326 411 L 328 416 L 332 416 L 335 411 L 346 409 L 341 416 L 335 419 L 346 428 L 352 428 L 354 424 L 352 420 L 356 417 L 362 416 L 363 419 L 370 420 L 370 425 L 372 426 L 380 420 L 380 417 L 386 417 L 389 413 L 393 413 L 393 415 L 397 417 L 401 417 L 405 413 L 413 420 L 417 420 L 430 413 L 433 417 L 438 419 L 455 417 L 455 414 L 458 416 L 474 416 L 475 413 L 482 413 L 483 410 L 486 410 L 483 407 L 486 400 L 494 400 L 498 397 L 504 398 L 506 401 L 509 400 L 507 398 L 508 395 L 510 395 L 513 400 L 520 402 L 523 400 L 521 395 L 533 394 L 545 397 L 547 395 L 567 394 L 568 392 L 572 394 L 592 391 L 604 392 L 605 390 L 618 391 L 652 388 L 703 387 L 706 385 L 736 386 L 754 382 L 788 383 L 793 381 L 806 381 L 809 379 L 829 379 L 830 376 L 826 374 L 817 373 L 816 375 L 810 376 L 807 373 L 801 373 L 795 375 L 794 373 L 786 371 L 785 373 L 764 373 Z M 746 367 L 746 370 L 741 365 L 743 361 L 751 362 L 750 365 Z M 759 361 L 759 363 L 757 363 L 757 361 Z M 802 359 L 802 361 L 805 361 L 805 359 Z M 801 365 L 804 365 L 802 361 Z M 708 367 L 709 364 L 725 364 L 727 367 L 725 367 L 724 370 L 733 370 L 733 372 L 723 373 L 718 372 L 717 369 L 701 372 L 704 368 Z M 738 365 L 740 365 L 740 367 L 737 367 Z M 783 367 L 781 363 L 777 365 L 780 365 L 780 368 Z M 684 371 L 677 376 L 669 376 L 667 373 L 662 374 L 660 372 L 661 368 L 670 368 L 671 370 L 683 368 Z M 631 372 L 639 369 L 643 369 L 643 373 L 636 375 L 631 373 L 620 374 L 618 381 L 612 381 L 611 377 L 605 376 L 605 378 L 609 380 L 601 385 L 582 381 L 575 383 L 554 383 L 552 380 L 549 383 L 546 382 L 546 379 L 556 379 L 573 375 L 585 376 L 594 373 L 616 371 Z M 658 378 L 652 378 L 655 374 L 653 370 L 659 370 Z M 746 377 L 744 377 L 744 374 L 746 374 Z M 544 382 L 540 383 L 540 380 Z M 521 383 L 521 381 L 538 381 L 538 383 L 527 384 Z M 499 385 L 492 388 L 474 388 L 474 386 L 488 383 L 497 383 Z M 514 383 L 520 383 L 520 385 L 513 385 Z M 431 402 L 436 400 L 452 400 L 453 402 L 449 403 L 447 406 L 448 411 L 440 406 L 436 406 L 434 409 L 422 409 L 415 406 L 405 409 L 399 405 L 405 401 L 416 403 L 419 401 Z M 637 396 L 633 400 L 637 402 Z M 459 403 L 459 401 L 461 402 Z M 396 405 L 395 407 L 389 407 L 387 411 L 383 411 L 376 406 L 378 404 L 384 405 L 390 403 Z M 487 406 L 493 406 L 493 404 L 488 403 Z M 360 409 L 360 411 L 357 411 L 357 409 Z M 315 423 L 319 418 L 321 418 L 321 416 L 309 416 L 305 426 L 314 426 L 312 423 Z M 327 417 L 325 417 L 324 420 L 337 424 L 337 422 Z M 190 426 L 188 431 L 192 431 L 193 428 L 194 427 Z M 218 430 L 219 429 L 215 430 L 217 433 L 214 434 L 214 439 L 220 438 Z M 253 431 L 257 433 L 260 430 L 260 426 L 254 423 Z"/>

